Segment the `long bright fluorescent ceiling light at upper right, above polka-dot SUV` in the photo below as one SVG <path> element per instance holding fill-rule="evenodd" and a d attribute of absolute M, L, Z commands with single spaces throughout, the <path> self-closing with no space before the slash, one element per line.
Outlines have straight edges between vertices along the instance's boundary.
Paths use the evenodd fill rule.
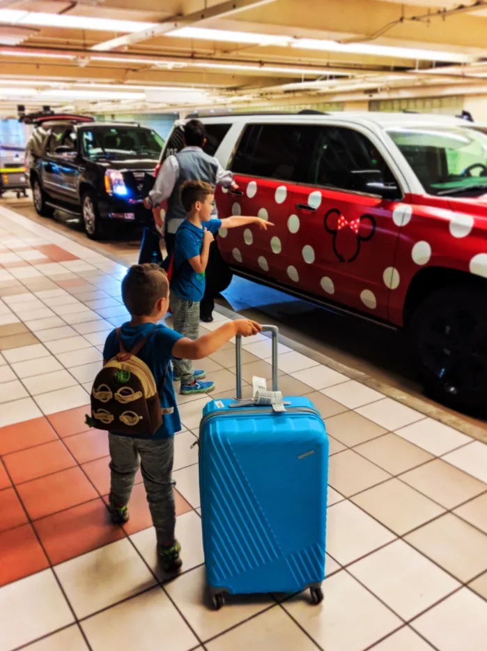
<path fill-rule="evenodd" d="M 342 54 L 367 54 L 372 57 L 422 59 L 426 61 L 458 61 L 458 63 L 472 61 L 470 54 L 459 54 L 458 52 L 419 50 L 412 47 L 394 47 L 373 43 L 337 43 L 335 40 L 320 40 L 318 38 L 298 38 L 292 43 L 292 46 L 300 48 L 300 50 L 323 50 L 325 52 L 341 52 Z"/>

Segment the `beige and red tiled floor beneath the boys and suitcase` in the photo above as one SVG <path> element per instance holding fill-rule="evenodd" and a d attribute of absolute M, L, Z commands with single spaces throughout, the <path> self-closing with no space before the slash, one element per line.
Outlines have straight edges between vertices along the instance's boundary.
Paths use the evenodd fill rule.
<path fill-rule="evenodd" d="M 281 345 L 279 381 L 314 401 L 330 435 L 323 604 L 265 594 L 208 609 L 190 447 L 206 396 L 180 400 L 181 576 L 164 581 L 147 518 L 133 515 L 127 530 L 105 523 L 106 441 L 77 414 L 100 347 L 126 319 L 124 273 L 0 207 L 0 651 L 485 651 L 487 447 L 312 352 Z M 226 317 L 216 319 L 201 332 Z M 252 375 L 270 378 L 268 338 L 246 341 L 243 358 L 248 394 Z M 201 367 L 215 396 L 233 395 L 233 343 Z M 61 486 L 65 495 L 49 493 Z M 144 508 L 137 496 L 132 514 Z"/>

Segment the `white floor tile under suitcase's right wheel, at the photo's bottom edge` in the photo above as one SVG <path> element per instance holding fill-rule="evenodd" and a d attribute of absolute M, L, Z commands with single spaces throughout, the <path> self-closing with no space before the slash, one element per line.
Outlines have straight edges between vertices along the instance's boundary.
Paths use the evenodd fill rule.
<path fill-rule="evenodd" d="M 326 651 L 363 651 L 401 626 L 401 620 L 344 571 L 327 578 L 325 599 L 310 606 L 308 595 L 284 608 Z"/>

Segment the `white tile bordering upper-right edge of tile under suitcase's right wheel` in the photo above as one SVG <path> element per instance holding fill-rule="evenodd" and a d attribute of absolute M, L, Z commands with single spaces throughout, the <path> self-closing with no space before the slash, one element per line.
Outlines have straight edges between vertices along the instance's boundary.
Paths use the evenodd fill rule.
<path fill-rule="evenodd" d="M 402 540 L 362 558 L 348 570 L 404 620 L 416 617 L 460 587 Z"/>

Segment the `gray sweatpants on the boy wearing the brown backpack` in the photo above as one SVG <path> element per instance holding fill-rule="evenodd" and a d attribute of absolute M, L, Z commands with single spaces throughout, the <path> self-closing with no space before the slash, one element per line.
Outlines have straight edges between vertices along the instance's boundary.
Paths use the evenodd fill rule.
<path fill-rule="evenodd" d="M 110 504 L 123 507 L 130 500 L 135 473 L 141 466 L 157 547 L 172 544 L 176 509 L 172 479 L 174 439 L 137 439 L 109 433 Z"/>

